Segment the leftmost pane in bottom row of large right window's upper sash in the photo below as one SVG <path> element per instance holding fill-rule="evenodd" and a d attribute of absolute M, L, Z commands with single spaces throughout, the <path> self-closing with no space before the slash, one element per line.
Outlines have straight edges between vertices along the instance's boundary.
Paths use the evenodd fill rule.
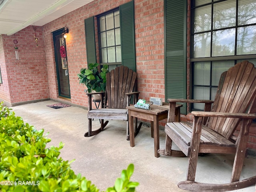
<path fill-rule="evenodd" d="M 193 57 L 210 57 L 211 33 L 194 35 L 194 54 Z"/>

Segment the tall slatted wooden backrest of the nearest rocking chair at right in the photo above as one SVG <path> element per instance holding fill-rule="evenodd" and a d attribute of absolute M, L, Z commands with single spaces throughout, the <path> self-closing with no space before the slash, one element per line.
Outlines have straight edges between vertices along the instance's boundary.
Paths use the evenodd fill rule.
<path fill-rule="evenodd" d="M 238 63 L 222 74 L 211 111 L 245 113 L 255 94 L 256 68 L 248 61 Z M 239 122 L 237 118 L 208 118 L 206 125 L 229 139 Z"/>

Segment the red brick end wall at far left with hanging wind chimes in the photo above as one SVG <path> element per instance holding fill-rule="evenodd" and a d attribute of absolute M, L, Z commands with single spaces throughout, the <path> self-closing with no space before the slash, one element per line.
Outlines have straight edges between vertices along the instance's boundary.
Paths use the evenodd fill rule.
<path fill-rule="evenodd" d="M 1 59 L 3 84 L 0 89 L 5 90 L 9 98 L 1 98 L 12 106 L 22 102 L 49 99 L 42 27 L 37 27 L 36 36 L 38 46 L 32 26 L 12 36 L 2 35 L 4 60 Z M 15 57 L 14 39 L 18 40 L 19 60 Z"/>

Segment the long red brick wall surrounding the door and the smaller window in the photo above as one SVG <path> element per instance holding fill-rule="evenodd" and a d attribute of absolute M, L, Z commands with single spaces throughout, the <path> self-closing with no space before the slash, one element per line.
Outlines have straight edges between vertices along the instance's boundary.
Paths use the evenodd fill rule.
<path fill-rule="evenodd" d="M 71 102 L 88 106 L 85 86 L 79 85 L 77 74 L 87 67 L 84 19 L 96 16 L 130 0 L 96 0 L 43 26 L 50 98 L 57 99 L 54 46 L 51 32 L 68 27 L 66 38 Z M 135 0 L 136 65 L 140 97 L 164 98 L 164 2 Z M 96 36 L 96 47 L 98 39 Z M 97 52 L 97 58 L 99 53 Z M 98 59 L 99 60 L 99 59 Z"/>

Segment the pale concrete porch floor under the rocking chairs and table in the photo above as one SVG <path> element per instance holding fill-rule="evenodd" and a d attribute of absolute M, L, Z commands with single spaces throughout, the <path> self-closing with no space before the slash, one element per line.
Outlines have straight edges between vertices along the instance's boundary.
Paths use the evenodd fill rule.
<path fill-rule="evenodd" d="M 48 146 L 63 142 L 60 156 L 73 160 L 71 167 L 92 181 L 100 191 L 113 186 L 121 171 L 130 163 L 134 164 L 132 181 L 139 182 L 138 192 L 182 192 L 177 184 L 185 180 L 188 158 L 154 157 L 154 139 L 150 128 L 142 126 L 135 138 L 135 146 L 126 140 L 126 122 L 110 120 L 104 132 L 86 138 L 87 110 L 75 106 L 54 109 L 46 105 L 58 102 L 49 100 L 11 107 L 16 113 L 37 130 L 49 132 L 52 141 Z M 99 128 L 99 120 L 93 127 Z M 165 134 L 160 130 L 160 148 L 164 148 Z M 210 154 L 198 158 L 196 181 L 228 183 L 232 172 L 234 155 Z M 256 174 L 256 157 L 245 159 L 241 179 Z M 236 192 L 255 192 L 255 185 Z"/>

